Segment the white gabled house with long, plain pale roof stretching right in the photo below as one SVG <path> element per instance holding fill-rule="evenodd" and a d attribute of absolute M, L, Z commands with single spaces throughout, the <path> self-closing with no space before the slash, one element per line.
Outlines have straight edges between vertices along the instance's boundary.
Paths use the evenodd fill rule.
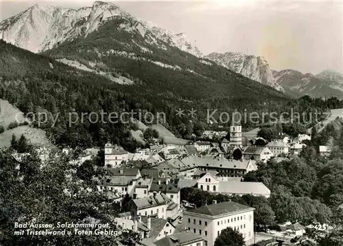
<path fill-rule="evenodd" d="M 211 173 L 202 176 L 197 184 L 198 188 L 211 193 L 270 197 L 270 190 L 261 182 L 222 181 Z"/>

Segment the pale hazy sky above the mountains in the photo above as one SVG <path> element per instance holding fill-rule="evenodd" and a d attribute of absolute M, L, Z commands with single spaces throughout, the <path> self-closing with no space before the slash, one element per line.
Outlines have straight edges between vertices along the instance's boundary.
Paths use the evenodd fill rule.
<path fill-rule="evenodd" d="M 0 20 L 34 3 L 66 8 L 93 1 L 3 1 Z M 343 72 L 342 1 L 116 1 L 124 10 L 173 32 L 185 32 L 204 54 L 264 56 L 275 70 Z"/>

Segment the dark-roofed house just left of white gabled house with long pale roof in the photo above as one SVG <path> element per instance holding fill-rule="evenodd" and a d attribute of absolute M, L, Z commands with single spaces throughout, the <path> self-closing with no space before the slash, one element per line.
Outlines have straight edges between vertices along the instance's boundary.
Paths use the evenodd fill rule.
<path fill-rule="evenodd" d="M 180 188 L 171 183 L 169 178 L 154 180 L 150 186 L 149 195 L 153 195 L 154 192 L 163 193 L 178 205 L 178 209 L 180 208 Z"/>

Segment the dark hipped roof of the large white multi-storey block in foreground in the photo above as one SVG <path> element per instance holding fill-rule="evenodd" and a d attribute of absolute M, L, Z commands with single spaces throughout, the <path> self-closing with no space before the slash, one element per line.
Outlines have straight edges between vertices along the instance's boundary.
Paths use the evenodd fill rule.
<path fill-rule="evenodd" d="M 219 204 L 211 204 L 207 206 L 202 206 L 200 208 L 193 208 L 191 210 L 187 210 L 187 212 L 192 212 L 195 214 L 204 214 L 215 217 L 218 215 L 233 214 L 235 212 L 243 210 L 254 210 L 254 208 L 250 208 L 248 206 L 238 204 L 233 201 L 226 201 L 221 202 Z"/>

